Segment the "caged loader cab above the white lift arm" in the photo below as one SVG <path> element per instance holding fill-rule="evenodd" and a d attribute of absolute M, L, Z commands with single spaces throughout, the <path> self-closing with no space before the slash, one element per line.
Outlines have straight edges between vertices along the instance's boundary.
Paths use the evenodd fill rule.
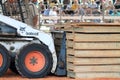
<path fill-rule="evenodd" d="M 30 26 L 40 26 L 39 8 L 29 0 L 2 0 L 0 2 L 1 13 Z M 36 17 L 37 16 L 37 21 Z M 33 20 L 35 18 L 35 20 Z M 37 27 L 39 28 L 39 27 Z"/>

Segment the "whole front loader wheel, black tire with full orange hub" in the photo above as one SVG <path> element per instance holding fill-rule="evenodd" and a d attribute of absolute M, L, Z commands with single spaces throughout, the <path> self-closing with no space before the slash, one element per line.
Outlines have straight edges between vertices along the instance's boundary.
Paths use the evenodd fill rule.
<path fill-rule="evenodd" d="M 16 67 L 24 77 L 44 77 L 52 69 L 52 54 L 47 46 L 37 43 L 28 44 L 16 56 Z"/>

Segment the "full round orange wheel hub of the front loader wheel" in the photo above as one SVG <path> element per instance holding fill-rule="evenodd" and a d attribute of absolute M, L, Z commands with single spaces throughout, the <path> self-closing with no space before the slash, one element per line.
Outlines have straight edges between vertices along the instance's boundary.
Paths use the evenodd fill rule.
<path fill-rule="evenodd" d="M 45 66 L 45 56 L 40 51 L 31 51 L 25 57 L 25 66 L 31 72 L 38 72 Z"/>

